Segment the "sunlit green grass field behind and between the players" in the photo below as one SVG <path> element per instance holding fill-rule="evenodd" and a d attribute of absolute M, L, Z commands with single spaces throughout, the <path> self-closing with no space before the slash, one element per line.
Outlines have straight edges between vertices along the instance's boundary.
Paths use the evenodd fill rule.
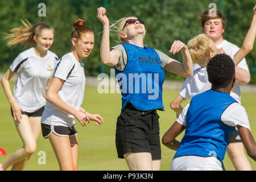
<path fill-rule="evenodd" d="M 11 84 L 13 89 L 14 83 Z M 166 111 L 158 111 L 160 116 L 160 138 L 175 122 L 175 113 L 169 107 L 170 101 L 174 99 L 178 90 L 164 90 L 163 104 Z M 255 93 L 243 93 L 242 105 L 246 108 L 250 120 L 251 131 L 256 138 L 256 103 Z M 4 148 L 7 155 L 0 156 L 0 163 L 5 162 L 15 150 L 22 147 L 22 141 L 15 129 L 13 118 L 10 113 L 10 105 L 7 101 L 2 86 L 0 88 L 0 147 Z M 188 103 L 186 101 L 183 106 Z M 86 86 L 85 98 L 82 104 L 89 113 L 100 114 L 104 118 L 105 124 L 96 127 L 93 122 L 82 127 L 76 122 L 79 137 L 79 170 L 129 170 L 124 159 L 118 159 L 115 150 L 115 123 L 121 110 L 120 94 L 99 94 L 96 86 Z M 177 139 L 181 139 L 179 136 Z M 46 164 L 38 164 L 39 151 L 46 152 Z M 162 145 L 161 170 L 170 170 L 171 161 L 175 151 Z M 248 157 L 249 158 L 249 157 Z M 256 170 L 256 163 L 249 158 L 249 162 Z M 234 170 L 233 164 L 228 155 L 225 156 L 224 165 L 226 170 Z M 10 169 L 10 168 L 9 168 Z M 9 170 L 8 169 L 8 170 Z M 48 139 L 39 137 L 35 154 L 31 156 L 30 161 L 24 170 L 59 170 L 59 165 L 52 151 Z"/>

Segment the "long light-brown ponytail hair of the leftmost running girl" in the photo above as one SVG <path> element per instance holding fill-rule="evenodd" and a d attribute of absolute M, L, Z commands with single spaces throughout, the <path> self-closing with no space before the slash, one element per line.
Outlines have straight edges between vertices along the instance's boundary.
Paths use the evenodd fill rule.
<path fill-rule="evenodd" d="M 6 34 L 5 39 L 8 39 L 7 46 L 13 46 L 17 44 L 34 44 L 34 35 L 40 36 L 43 29 L 52 30 L 54 34 L 53 27 L 49 26 L 44 22 L 40 22 L 35 26 L 32 26 L 28 20 L 24 22 L 21 20 L 24 27 L 16 27 L 10 30 L 10 34 Z"/>

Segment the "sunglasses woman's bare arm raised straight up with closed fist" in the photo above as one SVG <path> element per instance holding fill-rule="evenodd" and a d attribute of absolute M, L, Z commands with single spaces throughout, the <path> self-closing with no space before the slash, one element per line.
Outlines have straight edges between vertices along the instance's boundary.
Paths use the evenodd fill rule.
<path fill-rule="evenodd" d="M 97 9 L 97 18 L 103 24 L 103 34 L 101 38 L 101 61 L 103 64 L 114 66 L 119 63 L 120 53 L 113 49 L 110 52 L 110 43 L 109 43 L 109 19 L 105 15 L 106 9 L 104 7 L 99 7 Z"/>

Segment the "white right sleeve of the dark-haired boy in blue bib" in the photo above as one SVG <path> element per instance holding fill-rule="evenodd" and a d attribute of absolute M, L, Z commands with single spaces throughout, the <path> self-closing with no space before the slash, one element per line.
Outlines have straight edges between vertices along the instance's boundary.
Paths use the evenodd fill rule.
<path fill-rule="evenodd" d="M 234 102 L 221 115 L 221 121 L 228 126 L 240 125 L 250 130 L 249 119 L 245 107 Z"/>

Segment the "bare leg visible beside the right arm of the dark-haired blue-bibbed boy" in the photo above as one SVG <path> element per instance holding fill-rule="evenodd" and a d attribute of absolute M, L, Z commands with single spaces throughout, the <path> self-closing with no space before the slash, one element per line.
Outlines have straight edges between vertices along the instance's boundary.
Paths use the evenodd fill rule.
<path fill-rule="evenodd" d="M 251 165 L 246 158 L 242 142 L 229 143 L 226 148 L 229 158 L 237 171 L 251 171 Z"/>

